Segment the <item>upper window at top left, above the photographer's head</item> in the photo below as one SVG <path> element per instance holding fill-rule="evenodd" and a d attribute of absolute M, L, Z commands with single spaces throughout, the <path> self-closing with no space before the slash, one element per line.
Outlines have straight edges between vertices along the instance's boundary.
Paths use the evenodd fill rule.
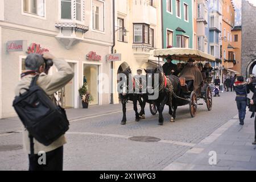
<path fill-rule="evenodd" d="M 23 0 L 23 12 L 44 17 L 44 0 Z"/>

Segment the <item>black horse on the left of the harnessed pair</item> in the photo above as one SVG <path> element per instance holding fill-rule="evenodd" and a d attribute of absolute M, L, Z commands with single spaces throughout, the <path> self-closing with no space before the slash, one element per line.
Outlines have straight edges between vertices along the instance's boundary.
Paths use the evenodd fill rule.
<path fill-rule="evenodd" d="M 125 71 L 122 72 L 125 76 L 121 78 L 125 79 L 123 84 L 118 85 L 118 89 L 121 90 L 119 92 L 119 100 L 122 103 L 123 107 L 123 118 L 121 125 L 126 125 L 126 103 L 127 101 L 133 101 L 133 109 L 135 111 L 135 121 L 139 121 L 140 119 L 145 118 L 145 113 L 144 113 L 144 107 L 146 105 L 146 93 L 134 93 L 135 85 L 137 84 L 137 80 L 133 76 L 131 76 L 131 69 L 128 67 Z M 129 86 L 130 85 L 130 86 Z M 133 88 L 130 88 L 131 85 L 133 85 Z M 139 101 L 139 105 L 141 106 L 141 111 L 138 113 L 138 107 L 137 107 L 137 102 Z"/>

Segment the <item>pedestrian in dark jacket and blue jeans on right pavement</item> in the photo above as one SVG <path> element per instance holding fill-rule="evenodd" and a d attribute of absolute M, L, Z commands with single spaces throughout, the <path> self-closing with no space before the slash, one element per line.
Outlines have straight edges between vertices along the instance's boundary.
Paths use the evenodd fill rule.
<path fill-rule="evenodd" d="M 244 81 L 244 78 L 242 76 L 237 77 L 237 81 L 234 84 L 234 90 L 236 91 L 236 102 L 239 113 L 239 121 L 240 125 L 243 126 L 246 114 L 247 93 L 249 93 L 250 90 L 247 89 L 247 83 Z"/>

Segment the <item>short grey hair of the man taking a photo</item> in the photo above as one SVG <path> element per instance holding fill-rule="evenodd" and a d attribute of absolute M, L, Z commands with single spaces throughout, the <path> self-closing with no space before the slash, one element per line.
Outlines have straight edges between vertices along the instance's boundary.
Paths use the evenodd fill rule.
<path fill-rule="evenodd" d="M 44 65 L 44 59 L 43 56 L 38 53 L 31 53 L 25 60 L 27 70 L 38 71 L 42 65 Z"/>

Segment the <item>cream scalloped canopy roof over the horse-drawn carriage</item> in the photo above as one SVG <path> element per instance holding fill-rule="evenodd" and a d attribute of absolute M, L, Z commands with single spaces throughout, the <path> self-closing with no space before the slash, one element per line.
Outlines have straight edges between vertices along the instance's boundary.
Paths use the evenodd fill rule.
<path fill-rule="evenodd" d="M 166 58 L 171 56 L 173 60 L 179 61 L 188 61 L 189 58 L 192 58 L 196 61 L 212 61 L 214 62 L 216 58 L 208 53 L 204 53 L 197 49 L 191 48 L 167 48 L 167 49 L 155 49 L 154 50 L 155 57 L 163 57 Z"/>

